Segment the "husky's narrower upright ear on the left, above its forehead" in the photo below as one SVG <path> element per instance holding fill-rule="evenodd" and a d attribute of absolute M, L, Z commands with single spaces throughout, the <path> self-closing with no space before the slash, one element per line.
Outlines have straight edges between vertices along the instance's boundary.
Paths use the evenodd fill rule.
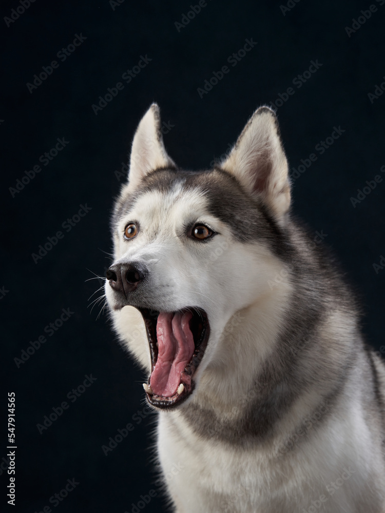
<path fill-rule="evenodd" d="M 158 168 L 176 168 L 167 155 L 161 132 L 160 110 L 156 103 L 142 117 L 133 137 L 128 183 L 136 188 L 150 171 Z"/>

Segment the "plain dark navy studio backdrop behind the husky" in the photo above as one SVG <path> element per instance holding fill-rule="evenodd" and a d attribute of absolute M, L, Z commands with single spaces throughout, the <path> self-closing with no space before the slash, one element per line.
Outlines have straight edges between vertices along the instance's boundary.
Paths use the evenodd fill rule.
<path fill-rule="evenodd" d="M 385 81 L 385 5 L 374 1 L 377 12 L 350 37 L 345 27 L 352 27 L 361 10 L 370 12 L 369 1 L 302 0 L 283 13 L 279 2 L 207 0 L 178 31 L 175 22 L 197 3 L 35 0 L 9 27 L 0 20 L 0 308 L 7 378 L 0 406 L 4 428 L 7 392 L 16 393 L 17 442 L 17 505 L 8 506 L 10 511 L 33 513 L 49 505 L 62 513 L 131 512 L 141 495 L 156 488 L 148 448 L 153 418 L 144 409 L 142 373 L 115 339 L 106 314 L 97 319 L 102 305 L 90 311 L 101 292 L 90 295 L 102 282 L 86 281 L 108 266 L 110 209 L 126 179 L 125 172 L 115 171 L 127 162 L 133 132 L 153 101 L 168 124 L 171 157 L 181 167 L 199 169 L 226 152 L 258 106 L 293 87 L 295 94 L 277 111 L 290 166 L 318 155 L 295 181 L 293 210 L 315 235 L 327 234 L 322 244 L 333 249 L 360 294 L 368 342 L 377 349 L 384 344 L 385 269 L 376 273 L 373 264 L 385 255 L 385 181 L 355 208 L 350 198 L 385 164 L 385 94 L 372 102 L 368 97 Z M 20 5 L 3 2 L 1 17 Z M 56 54 L 75 34 L 86 40 L 61 62 Z M 227 58 L 245 39 L 258 44 L 229 65 Z M 122 74 L 141 56 L 148 64 L 127 84 Z M 30 93 L 27 83 L 53 60 L 59 67 Z M 297 88 L 293 80 L 312 60 L 322 66 Z M 229 73 L 201 98 L 197 89 L 224 65 Z M 92 104 L 117 82 L 124 89 L 96 115 Z M 315 146 L 335 126 L 345 131 L 320 155 Z M 9 188 L 63 137 L 66 147 L 47 166 L 40 163 L 42 171 L 12 197 Z M 62 223 L 81 204 L 91 210 L 66 232 Z M 32 253 L 58 230 L 64 238 L 34 263 Z M 47 336 L 45 326 L 63 308 L 73 314 Z M 15 358 L 44 334 L 47 341 L 17 365 Z M 97 380 L 70 402 L 67 393 L 90 374 Z M 63 401 L 68 409 L 40 434 L 37 424 Z M 138 410 L 144 419 L 135 416 Z M 127 423 L 133 431 L 105 456 L 102 446 Z M 6 446 L 4 431 L 0 458 Z M 5 510 L 9 477 L 1 463 Z M 72 478 L 79 485 L 55 507 L 50 497 Z M 145 510 L 165 510 L 159 493 Z"/>

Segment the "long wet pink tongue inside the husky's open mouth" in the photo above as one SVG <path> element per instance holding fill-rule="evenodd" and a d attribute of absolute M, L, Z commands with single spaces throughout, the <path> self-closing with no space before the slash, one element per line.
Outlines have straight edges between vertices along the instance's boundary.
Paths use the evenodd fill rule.
<path fill-rule="evenodd" d="M 174 396 L 181 382 L 181 372 L 194 354 L 194 337 L 188 325 L 191 318 L 191 312 L 159 314 L 158 360 L 150 378 L 152 391 L 157 396 Z"/>

